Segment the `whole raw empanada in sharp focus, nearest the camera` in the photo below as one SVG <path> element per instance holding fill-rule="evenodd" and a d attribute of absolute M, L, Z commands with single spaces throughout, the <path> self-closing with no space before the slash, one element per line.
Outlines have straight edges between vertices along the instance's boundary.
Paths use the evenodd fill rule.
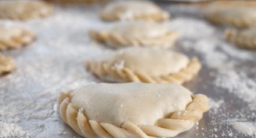
<path fill-rule="evenodd" d="M 62 93 L 58 112 L 84 137 L 174 137 L 209 108 L 205 95 L 175 83 L 99 83 Z"/>

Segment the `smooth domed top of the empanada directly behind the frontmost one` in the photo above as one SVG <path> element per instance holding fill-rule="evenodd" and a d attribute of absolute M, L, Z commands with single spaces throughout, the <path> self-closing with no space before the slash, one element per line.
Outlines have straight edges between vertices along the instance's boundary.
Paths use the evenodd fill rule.
<path fill-rule="evenodd" d="M 124 67 L 152 76 L 177 73 L 189 63 L 189 58 L 178 52 L 161 49 L 128 48 L 107 57 L 113 68 Z M 120 65 L 120 66 L 119 66 Z"/>

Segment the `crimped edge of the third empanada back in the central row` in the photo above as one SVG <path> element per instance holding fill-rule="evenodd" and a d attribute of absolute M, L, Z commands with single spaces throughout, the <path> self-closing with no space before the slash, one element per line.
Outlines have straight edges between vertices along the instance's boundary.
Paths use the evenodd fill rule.
<path fill-rule="evenodd" d="M 114 34 L 108 31 L 96 31 L 91 29 L 89 31 L 90 37 L 99 43 L 107 43 L 114 48 L 127 47 L 127 46 L 140 46 L 140 47 L 161 47 L 168 48 L 178 39 L 178 33 L 169 31 L 167 34 L 155 38 L 126 38 L 120 34 Z"/>

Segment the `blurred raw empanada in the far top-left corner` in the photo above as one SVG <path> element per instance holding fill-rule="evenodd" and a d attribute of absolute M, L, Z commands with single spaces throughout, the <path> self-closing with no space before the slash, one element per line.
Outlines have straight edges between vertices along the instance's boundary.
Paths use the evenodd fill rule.
<path fill-rule="evenodd" d="M 52 7 L 42 1 L 0 1 L 1 19 L 37 19 L 40 17 L 49 16 L 51 13 Z"/>

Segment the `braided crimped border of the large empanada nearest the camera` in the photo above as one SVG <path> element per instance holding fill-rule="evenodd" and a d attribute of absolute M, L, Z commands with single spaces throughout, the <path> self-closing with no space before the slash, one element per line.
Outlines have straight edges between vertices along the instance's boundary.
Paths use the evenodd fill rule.
<path fill-rule="evenodd" d="M 172 91 L 172 89 L 169 89 L 169 91 Z M 120 93 L 122 93 L 122 91 L 120 91 Z M 68 124 L 71 128 L 73 128 L 76 133 L 84 137 L 92 138 L 174 137 L 177 134 L 192 128 L 195 122 L 199 121 L 202 118 L 202 114 L 209 109 L 208 98 L 205 95 L 191 95 L 190 101 L 184 107 L 184 110 L 175 110 L 174 112 L 167 113 L 168 116 L 166 116 L 166 118 L 159 118 L 154 124 L 137 125 L 137 122 L 125 120 L 120 126 L 117 126 L 111 122 L 97 122 L 95 120 L 92 120 L 88 113 L 90 112 L 90 109 L 87 110 L 83 107 L 78 107 L 76 103 L 72 103 L 74 101 L 74 95 L 75 94 L 73 94 L 73 92 L 61 93 L 60 97 L 58 98 L 58 112 L 60 113 L 63 121 L 66 122 L 66 124 Z M 172 93 L 170 93 L 169 96 L 165 96 L 172 97 Z M 153 95 L 153 97 L 155 97 L 155 95 Z M 182 99 L 183 95 L 181 94 L 180 97 Z M 83 98 L 85 98 L 83 99 L 84 101 L 90 103 L 90 98 Z M 136 104 L 137 103 L 133 103 L 133 105 Z M 142 111 L 133 110 L 130 112 Z M 105 112 L 101 112 L 101 110 L 99 110 L 98 113 L 102 116 L 106 115 Z M 154 113 L 152 114 L 154 115 Z M 122 118 L 122 116 L 118 115 L 116 117 Z M 134 117 L 136 117 L 136 115 Z"/>

